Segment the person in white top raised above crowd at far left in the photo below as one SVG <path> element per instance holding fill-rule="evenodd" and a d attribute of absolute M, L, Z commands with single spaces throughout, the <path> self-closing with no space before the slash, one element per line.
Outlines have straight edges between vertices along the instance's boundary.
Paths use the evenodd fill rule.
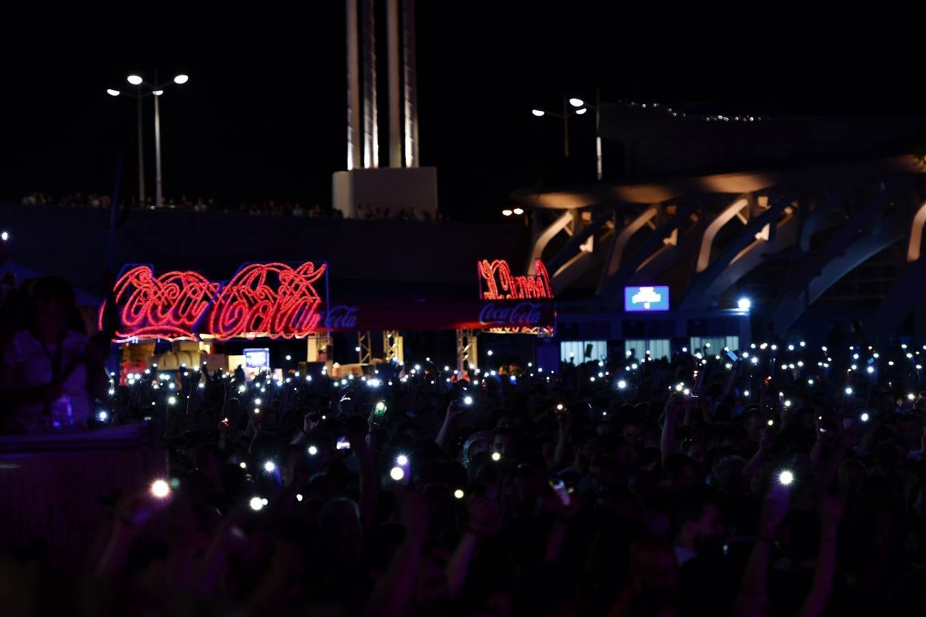
<path fill-rule="evenodd" d="M 68 327 L 74 292 L 63 278 L 39 278 L 31 282 L 26 301 L 27 327 L 3 352 L 6 432 L 85 427 L 94 398 L 106 396 L 108 380 L 87 337 Z"/>

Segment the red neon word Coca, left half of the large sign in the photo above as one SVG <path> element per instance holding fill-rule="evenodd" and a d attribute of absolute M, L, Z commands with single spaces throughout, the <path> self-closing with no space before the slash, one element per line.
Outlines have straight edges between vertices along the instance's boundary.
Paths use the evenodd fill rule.
<path fill-rule="evenodd" d="M 116 282 L 113 294 L 121 329 L 119 342 L 134 337 L 194 339 L 193 328 L 202 318 L 219 289 L 196 272 L 167 272 L 155 277 L 147 265 L 134 267 Z M 100 307 L 100 329 L 106 303 Z"/>

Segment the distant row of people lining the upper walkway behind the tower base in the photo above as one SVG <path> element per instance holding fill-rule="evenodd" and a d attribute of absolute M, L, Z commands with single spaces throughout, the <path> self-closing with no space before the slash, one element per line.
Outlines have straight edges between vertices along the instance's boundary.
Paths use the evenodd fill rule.
<path fill-rule="evenodd" d="M 46 195 L 43 192 L 33 192 L 22 198 L 22 203 L 27 205 L 60 205 L 68 208 L 110 208 L 112 207 L 112 198 L 108 195 L 97 193 L 83 194 L 81 192 L 71 193 L 62 197 Z M 183 210 L 189 212 L 218 212 L 222 214 L 238 214 L 249 216 L 307 216 L 310 218 L 343 218 L 344 213 L 337 208 L 324 208 L 318 203 L 304 205 L 299 202 L 274 200 L 261 202 L 240 202 L 238 204 L 224 203 L 215 199 L 198 198 L 196 200 L 181 196 L 180 199 L 167 198 L 160 206 L 155 204 L 153 197 L 147 197 L 144 204 L 137 197 L 129 197 L 120 200 L 121 207 L 130 210 L 148 209 L 148 210 Z M 404 221 L 442 221 L 444 217 L 437 213 L 425 210 L 415 210 L 412 208 L 397 208 L 393 210 L 389 207 L 374 206 L 372 204 L 357 204 L 357 215 L 355 218 L 366 220 L 386 220 L 397 219 Z"/>

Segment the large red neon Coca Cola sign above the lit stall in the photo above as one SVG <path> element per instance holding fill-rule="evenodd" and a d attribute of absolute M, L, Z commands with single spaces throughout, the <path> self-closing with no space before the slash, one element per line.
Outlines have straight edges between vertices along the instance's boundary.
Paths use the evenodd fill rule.
<path fill-rule="evenodd" d="M 150 266 L 125 272 L 113 289 L 119 328 L 114 340 L 196 339 L 204 334 L 219 340 L 236 337 L 294 339 L 319 327 L 321 296 L 316 283 L 327 265 L 312 262 L 252 264 L 222 286 L 190 271 L 155 277 Z M 106 303 L 100 307 L 100 329 Z"/>

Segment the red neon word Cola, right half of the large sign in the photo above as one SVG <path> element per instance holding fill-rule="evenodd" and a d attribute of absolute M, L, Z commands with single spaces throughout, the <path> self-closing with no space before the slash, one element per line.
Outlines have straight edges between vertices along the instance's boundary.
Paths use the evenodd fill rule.
<path fill-rule="evenodd" d="M 219 293 L 209 331 L 219 340 L 234 337 L 293 339 L 318 326 L 321 297 L 313 284 L 325 272 L 312 262 L 244 267 Z"/>

